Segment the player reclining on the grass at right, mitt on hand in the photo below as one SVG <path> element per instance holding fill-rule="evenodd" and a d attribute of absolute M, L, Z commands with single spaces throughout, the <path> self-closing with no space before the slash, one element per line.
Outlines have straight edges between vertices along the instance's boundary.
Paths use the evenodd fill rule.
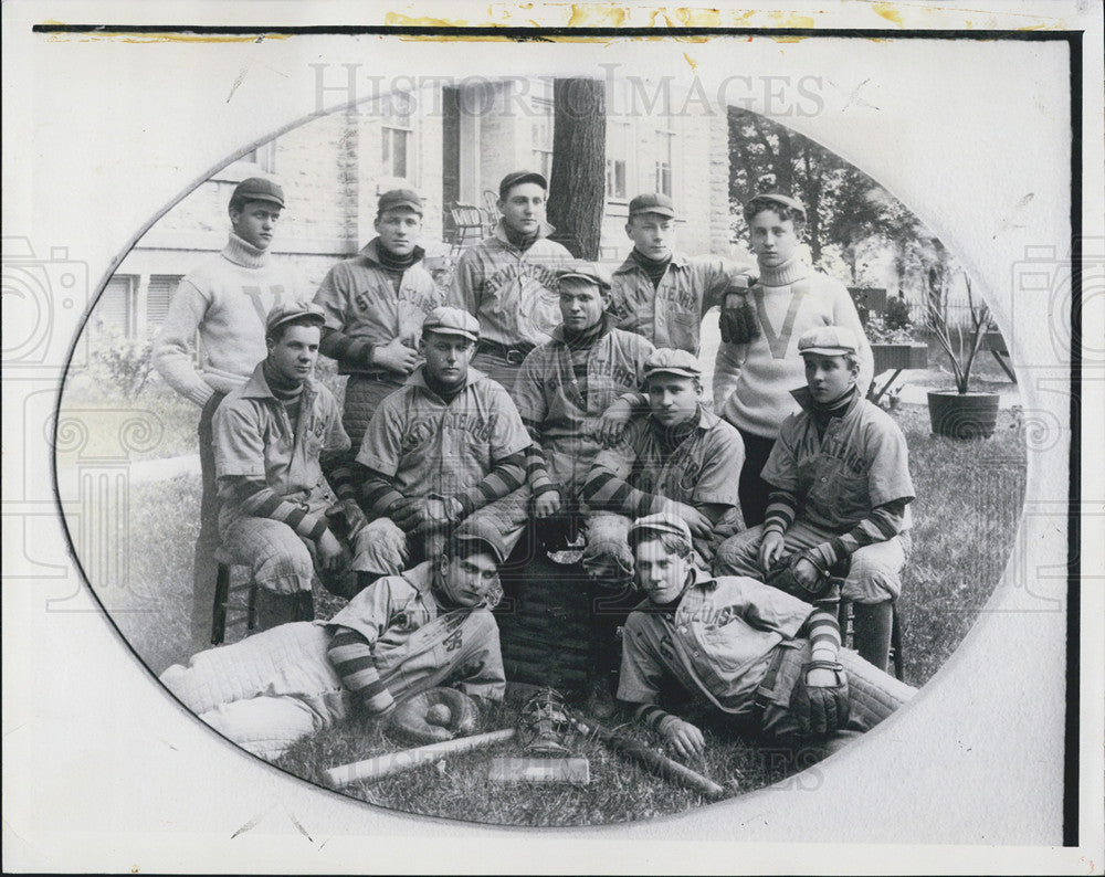
<path fill-rule="evenodd" d="M 841 647 L 834 603 L 810 605 L 755 579 L 697 569 L 682 518 L 641 518 L 629 541 L 646 599 L 625 623 L 618 699 L 684 759 L 701 758 L 705 740 L 662 706 L 670 681 L 739 733 L 820 739 L 830 750 L 916 693 Z"/>

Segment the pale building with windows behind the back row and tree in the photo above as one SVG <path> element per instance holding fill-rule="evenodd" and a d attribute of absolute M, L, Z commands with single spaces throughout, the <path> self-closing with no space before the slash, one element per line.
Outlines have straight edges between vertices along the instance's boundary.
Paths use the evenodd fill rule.
<path fill-rule="evenodd" d="M 663 101 L 655 99 L 657 87 Z M 602 260 L 613 266 L 629 253 L 629 200 L 648 191 L 666 192 L 680 205 L 680 249 L 728 253 L 727 138 L 724 107 L 686 101 L 670 81 L 609 80 Z M 260 145 L 173 205 L 120 263 L 93 311 L 93 329 L 155 334 L 180 277 L 225 243 L 227 204 L 246 177 L 272 176 L 284 187 L 287 207 L 272 252 L 296 263 L 314 288 L 334 262 L 373 235 L 376 204 L 388 189 L 422 194 L 423 245 L 448 257 L 494 222 L 505 173 L 532 168 L 548 175 L 551 160 L 550 80 L 434 83 L 314 118 Z M 482 211 L 456 214 L 462 224 L 478 215 L 481 228 L 457 229 L 457 203 Z"/>

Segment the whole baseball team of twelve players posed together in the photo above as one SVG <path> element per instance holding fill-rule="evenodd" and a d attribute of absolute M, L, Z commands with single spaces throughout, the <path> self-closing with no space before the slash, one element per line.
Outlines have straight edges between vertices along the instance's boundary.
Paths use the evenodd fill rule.
<path fill-rule="evenodd" d="M 610 272 L 550 239 L 540 173 L 498 194 L 449 288 L 419 245 L 422 199 L 397 189 L 313 290 L 269 254 L 295 205 L 271 179 L 238 184 L 227 246 L 180 282 L 154 346 L 200 409 L 202 469 L 192 654 L 162 683 L 266 759 L 430 688 L 502 700 L 499 571 L 537 546 L 598 595 L 609 706 L 678 758 L 705 747 L 687 697 L 735 735 L 830 751 L 886 718 L 915 690 L 887 673 L 908 453 L 865 398 L 848 290 L 800 257 L 803 205 L 746 203 L 744 264 L 676 250 L 672 199 L 640 194 Z M 347 376 L 344 403 L 319 355 Z M 212 647 L 232 567 L 256 632 Z M 348 601 L 332 617 L 315 617 L 316 582 Z"/>

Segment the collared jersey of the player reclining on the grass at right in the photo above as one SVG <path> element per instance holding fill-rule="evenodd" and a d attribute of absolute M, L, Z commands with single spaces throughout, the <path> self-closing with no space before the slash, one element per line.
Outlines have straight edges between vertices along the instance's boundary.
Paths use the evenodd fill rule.
<path fill-rule="evenodd" d="M 813 607 L 755 579 L 694 574 L 674 613 L 648 600 L 630 613 L 618 699 L 656 704 L 667 673 L 726 712 L 747 715 L 772 652 L 798 635 Z"/>

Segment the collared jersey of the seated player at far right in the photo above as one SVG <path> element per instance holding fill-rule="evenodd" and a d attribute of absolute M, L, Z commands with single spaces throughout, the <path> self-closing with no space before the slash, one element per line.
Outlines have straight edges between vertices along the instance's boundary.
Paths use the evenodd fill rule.
<path fill-rule="evenodd" d="M 793 397 L 803 408 L 812 404 L 806 388 Z M 870 517 L 876 506 L 914 497 L 902 430 L 859 395 L 829 422 L 823 438 L 807 411 L 787 418 L 761 477 L 798 497 L 799 519 L 838 533 Z M 908 528 L 908 506 L 903 520 Z"/>

